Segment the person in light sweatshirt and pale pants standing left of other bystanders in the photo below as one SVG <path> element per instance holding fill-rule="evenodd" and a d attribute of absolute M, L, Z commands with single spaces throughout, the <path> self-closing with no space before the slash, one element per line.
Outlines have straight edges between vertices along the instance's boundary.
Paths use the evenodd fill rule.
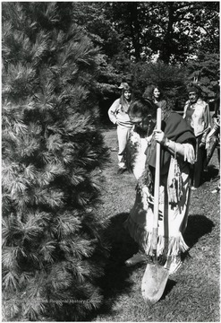
<path fill-rule="evenodd" d="M 128 109 L 132 103 L 132 89 L 128 83 L 121 83 L 119 89 L 122 90 L 122 95 L 108 109 L 108 116 L 110 121 L 117 126 L 118 173 L 122 174 L 126 170 L 124 151 L 132 130 L 132 122 L 128 116 Z"/>

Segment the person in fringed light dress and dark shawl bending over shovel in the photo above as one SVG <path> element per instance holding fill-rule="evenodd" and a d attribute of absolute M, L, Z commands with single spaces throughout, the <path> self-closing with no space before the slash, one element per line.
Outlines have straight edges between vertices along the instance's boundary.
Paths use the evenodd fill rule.
<path fill-rule="evenodd" d="M 188 249 L 183 240 L 191 190 L 191 164 L 195 160 L 195 135 L 186 121 L 173 110 L 162 111 L 161 130 L 156 130 L 157 105 L 135 100 L 128 111 L 137 128 L 148 139 L 144 170 L 138 179 L 136 198 L 124 227 L 139 245 L 126 266 L 151 261 L 156 143 L 161 146 L 157 257 L 170 275 L 182 265 L 181 254 Z M 135 159 L 136 160 L 136 159 Z"/>

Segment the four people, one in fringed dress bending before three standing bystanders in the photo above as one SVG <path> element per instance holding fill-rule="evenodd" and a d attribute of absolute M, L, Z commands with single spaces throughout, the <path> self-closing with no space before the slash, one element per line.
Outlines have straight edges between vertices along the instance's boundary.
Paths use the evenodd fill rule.
<path fill-rule="evenodd" d="M 136 199 L 124 223 L 139 245 L 139 252 L 125 264 L 132 266 L 151 261 L 154 213 L 156 146 L 160 144 L 160 183 L 158 209 L 157 258 L 170 274 L 182 264 L 183 240 L 187 226 L 191 189 L 199 188 L 206 158 L 210 130 L 208 103 L 200 98 L 200 89 L 188 88 L 189 100 L 183 117 L 167 106 L 157 85 L 149 86 L 140 100 L 134 100 L 128 83 L 122 83 L 122 95 L 108 110 L 117 125 L 119 172 L 126 170 L 123 153 L 130 144 L 130 163 L 137 179 Z M 156 129 L 157 108 L 161 108 L 161 127 Z"/>

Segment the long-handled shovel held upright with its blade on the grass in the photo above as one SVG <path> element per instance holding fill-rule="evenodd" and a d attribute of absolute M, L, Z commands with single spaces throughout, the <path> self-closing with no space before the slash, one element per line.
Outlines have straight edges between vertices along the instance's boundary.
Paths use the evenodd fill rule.
<path fill-rule="evenodd" d="M 157 130 L 161 128 L 161 108 L 157 108 Z M 145 301 L 155 304 L 165 291 L 169 270 L 157 262 L 157 235 L 158 235 L 158 199 L 160 176 L 160 144 L 157 143 L 155 186 L 154 186 L 154 219 L 152 229 L 153 263 L 148 264 L 142 278 L 141 292 Z"/>

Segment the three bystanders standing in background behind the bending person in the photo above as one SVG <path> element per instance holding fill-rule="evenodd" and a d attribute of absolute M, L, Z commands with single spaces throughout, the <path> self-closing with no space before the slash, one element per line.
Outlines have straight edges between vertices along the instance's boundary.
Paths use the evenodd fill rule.
<path fill-rule="evenodd" d="M 121 83 L 119 89 L 122 90 L 122 95 L 108 109 L 108 116 L 117 126 L 118 173 L 121 174 L 127 169 L 124 153 L 134 126 L 128 114 L 128 109 L 134 99 L 132 88 L 128 83 Z M 207 158 L 207 135 L 211 126 L 208 103 L 200 98 L 199 86 L 195 84 L 189 86 L 188 95 L 189 100 L 186 101 L 183 108 L 183 118 L 191 126 L 196 137 L 196 158 L 191 187 L 194 190 L 200 187 L 202 180 L 203 167 Z M 156 106 L 160 106 L 163 111 L 168 112 L 166 100 L 163 99 L 163 94 L 157 85 L 149 85 L 142 98 L 151 100 Z"/>

